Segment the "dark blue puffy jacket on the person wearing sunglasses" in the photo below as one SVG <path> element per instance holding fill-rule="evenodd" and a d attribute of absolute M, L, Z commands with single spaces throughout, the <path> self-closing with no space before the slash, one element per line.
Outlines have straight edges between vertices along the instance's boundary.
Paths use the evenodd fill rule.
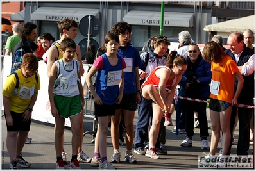
<path fill-rule="evenodd" d="M 198 99 L 202 99 L 202 100 L 207 100 L 209 99 L 209 95 L 210 95 L 210 81 L 212 79 L 212 71 L 210 70 L 210 63 L 203 60 L 203 58 L 201 57 L 201 53 L 198 56 L 198 65 L 196 67 L 196 72 L 195 72 L 195 79 L 199 80 L 198 85 L 198 91 L 199 94 L 196 95 L 196 97 L 191 97 L 191 98 L 198 98 Z M 189 57 L 187 57 L 187 70 L 185 70 L 184 74 L 183 74 L 183 78 L 180 81 L 179 85 L 180 85 L 180 91 L 181 92 L 185 92 L 188 91 L 185 88 L 186 83 L 191 83 L 192 82 L 192 78 L 190 78 L 190 76 L 187 74 L 188 70 L 191 69 L 189 67 L 191 67 L 192 63 L 191 60 L 189 59 Z M 189 89 L 189 88 L 188 88 Z M 185 97 L 185 95 L 184 95 Z"/>

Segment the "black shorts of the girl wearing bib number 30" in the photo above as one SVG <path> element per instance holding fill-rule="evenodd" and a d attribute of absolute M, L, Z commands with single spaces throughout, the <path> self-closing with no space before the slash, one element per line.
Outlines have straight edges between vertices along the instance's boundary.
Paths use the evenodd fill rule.
<path fill-rule="evenodd" d="M 96 104 L 94 102 L 94 108 L 95 108 L 94 115 L 96 117 L 106 117 L 106 116 L 115 115 L 115 107 L 116 107 L 116 104 L 112 104 L 112 105 L 108 105 L 108 104 L 98 105 L 98 104 Z"/>

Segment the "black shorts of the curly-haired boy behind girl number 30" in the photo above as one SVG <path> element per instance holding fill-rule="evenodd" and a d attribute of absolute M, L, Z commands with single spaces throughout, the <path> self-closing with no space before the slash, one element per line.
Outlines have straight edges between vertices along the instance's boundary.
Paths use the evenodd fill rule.
<path fill-rule="evenodd" d="M 123 99 L 120 104 L 117 104 L 116 108 L 135 111 L 137 110 L 136 98 L 137 98 L 137 93 L 123 94 Z"/>

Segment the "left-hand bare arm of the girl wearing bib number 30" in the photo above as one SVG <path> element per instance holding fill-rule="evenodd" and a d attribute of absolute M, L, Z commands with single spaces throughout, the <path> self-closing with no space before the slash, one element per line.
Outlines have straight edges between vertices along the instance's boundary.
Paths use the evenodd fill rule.
<path fill-rule="evenodd" d="M 97 70 L 98 70 L 98 68 L 95 67 L 94 65 L 92 65 L 92 67 L 90 68 L 89 72 L 87 73 L 87 75 L 85 77 L 85 81 L 87 83 L 87 86 L 88 86 L 90 92 L 94 96 L 94 102 L 98 105 L 103 105 L 103 101 L 101 100 L 99 95 L 95 92 L 93 84 L 92 84 L 92 76 L 94 76 L 94 74 L 97 72 Z"/>

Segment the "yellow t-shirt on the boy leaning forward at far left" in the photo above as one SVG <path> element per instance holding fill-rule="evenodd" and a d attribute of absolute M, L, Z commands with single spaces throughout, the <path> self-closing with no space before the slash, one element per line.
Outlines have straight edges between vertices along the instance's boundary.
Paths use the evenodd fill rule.
<path fill-rule="evenodd" d="M 23 113 L 28 108 L 30 104 L 31 97 L 35 92 L 40 90 L 40 77 L 38 76 L 38 83 L 35 76 L 24 77 L 21 74 L 22 69 L 16 70 L 19 77 L 19 87 L 15 90 L 17 84 L 17 79 L 14 74 L 7 77 L 6 83 L 3 88 L 3 95 L 10 98 L 10 110 Z"/>

